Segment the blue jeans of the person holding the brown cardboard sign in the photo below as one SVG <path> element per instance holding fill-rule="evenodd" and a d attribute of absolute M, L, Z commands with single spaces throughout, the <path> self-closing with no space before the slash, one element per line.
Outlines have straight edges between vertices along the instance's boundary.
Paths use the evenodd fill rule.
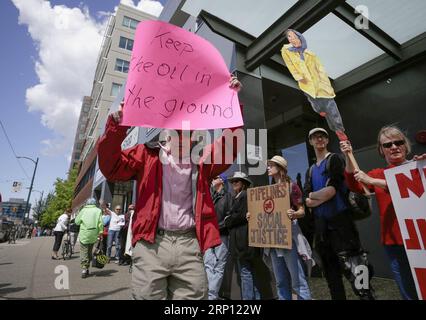
<path fill-rule="evenodd" d="M 277 250 L 270 249 L 278 299 L 292 300 L 294 291 L 298 300 L 311 300 L 311 291 L 294 241 L 291 250 L 282 249 L 280 252 L 283 256 L 279 257 Z"/>

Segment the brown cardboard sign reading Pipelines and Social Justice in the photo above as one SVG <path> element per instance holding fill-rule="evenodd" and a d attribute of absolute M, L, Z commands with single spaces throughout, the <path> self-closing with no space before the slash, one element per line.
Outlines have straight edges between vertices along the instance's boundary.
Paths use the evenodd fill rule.
<path fill-rule="evenodd" d="M 291 249 L 288 184 L 247 189 L 250 247 Z"/>

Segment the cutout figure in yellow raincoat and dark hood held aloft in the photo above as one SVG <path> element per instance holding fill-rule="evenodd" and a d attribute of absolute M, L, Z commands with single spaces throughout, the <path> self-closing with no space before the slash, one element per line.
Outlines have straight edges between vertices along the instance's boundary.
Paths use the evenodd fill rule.
<path fill-rule="evenodd" d="M 318 57 L 308 50 L 306 39 L 300 32 L 289 29 L 288 42 L 281 49 L 281 55 L 299 88 L 308 98 L 316 113 L 325 117 L 327 124 L 339 140 L 348 140 L 342 117 L 337 108 L 334 89 Z"/>

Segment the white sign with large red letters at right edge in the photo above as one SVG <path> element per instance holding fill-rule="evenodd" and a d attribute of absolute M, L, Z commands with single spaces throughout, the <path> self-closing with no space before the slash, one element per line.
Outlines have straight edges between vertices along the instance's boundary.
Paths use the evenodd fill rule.
<path fill-rule="evenodd" d="M 426 161 L 385 171 L 419 299 L 426 300 Z"/>

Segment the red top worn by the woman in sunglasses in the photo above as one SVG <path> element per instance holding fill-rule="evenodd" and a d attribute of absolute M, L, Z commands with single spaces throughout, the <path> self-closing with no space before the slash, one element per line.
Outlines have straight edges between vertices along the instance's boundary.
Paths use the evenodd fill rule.
<path fill-rule="evenodd" d="M 389 166 L 388 168 L 393 168 Z M 375 179 L 385 179 L 385 169 L 374 169 L 367 174 Z M 354 192 L 363 193 L 362 185 L 355 180 L 354 175 L 345 171 L 345 179 L 349 189 Z M 389 190 L 369 185 L 370 191 L 376 193 L 377 204 L 380 211 L 380 229 L 381 242 L 384 245 L 404 245 L 402 241 L 401 230 L 399 229 L 398 219 L 396 218 L 395 208 Z"/>

